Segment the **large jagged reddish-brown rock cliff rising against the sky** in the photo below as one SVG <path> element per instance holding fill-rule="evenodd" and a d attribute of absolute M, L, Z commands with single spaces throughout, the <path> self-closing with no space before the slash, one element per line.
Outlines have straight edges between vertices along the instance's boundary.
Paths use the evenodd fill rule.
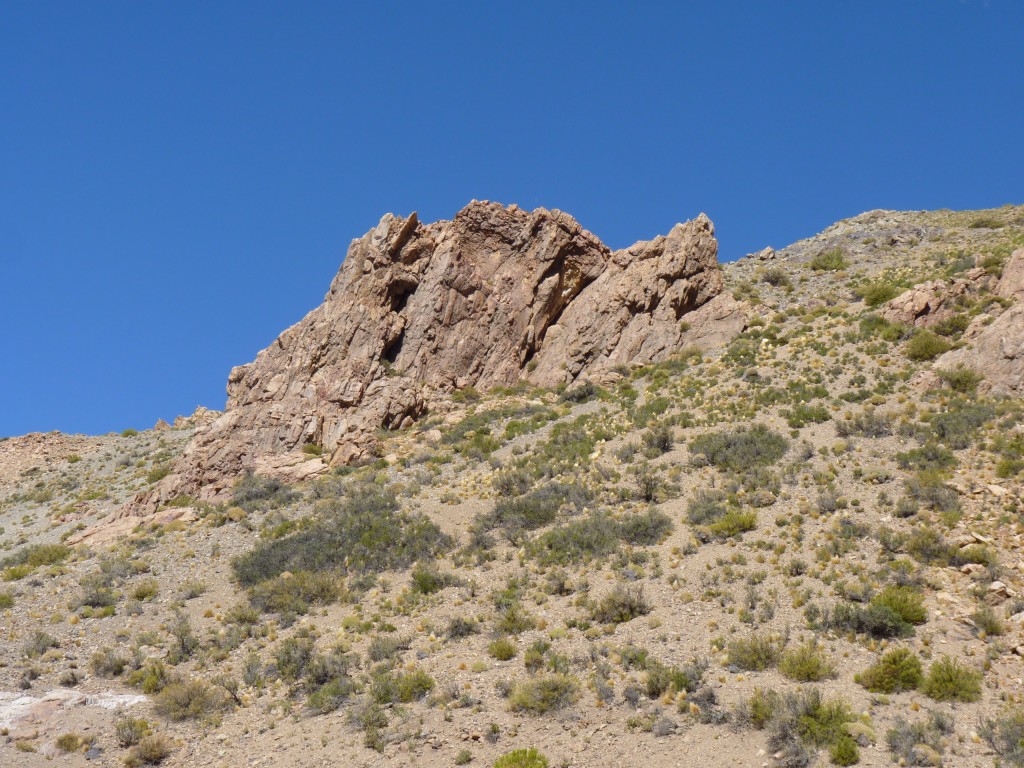
<path fill-rule="evenodd" d="M 559 211 L 387 215 L 352 243 L 324 303 L 231 371 L 223 415 L 134 508 L 217 498 L 247 470 L 298 479 L 351 462 L 375 430 L 453 389 L 553 386 L 721 343 L 745 316 L 721 293 L 717 251 L 703 214 L 615 252 Z"/>

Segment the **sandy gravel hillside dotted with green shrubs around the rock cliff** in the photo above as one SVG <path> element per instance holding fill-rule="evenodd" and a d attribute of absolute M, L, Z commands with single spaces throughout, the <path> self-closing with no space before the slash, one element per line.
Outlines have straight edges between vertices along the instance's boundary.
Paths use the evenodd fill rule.
<path fill-rule="evenodd" d="M 1024 207 L 700 245 L 724 338 L 531 337 L 344 461 L 300 430 L 294 483 L 176 481 L 216 414 L 0 441 L 0 764 L 1024 765 L 1022 246 Z"/>

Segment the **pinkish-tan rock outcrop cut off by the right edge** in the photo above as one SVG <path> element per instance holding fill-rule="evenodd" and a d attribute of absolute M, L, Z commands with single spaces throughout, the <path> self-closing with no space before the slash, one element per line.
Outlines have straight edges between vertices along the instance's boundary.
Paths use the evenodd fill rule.
<path fill-rule="evenodd" d="M 992 395 L 1024 395 L 1024 249 L 1011 255 L 995 294 L 1016 301 L 996 317 L 976 317 L 964 334 L 967 344 L 946 352 L 938 370 L 969 368 L 984 377 L 979 389 Z"/>

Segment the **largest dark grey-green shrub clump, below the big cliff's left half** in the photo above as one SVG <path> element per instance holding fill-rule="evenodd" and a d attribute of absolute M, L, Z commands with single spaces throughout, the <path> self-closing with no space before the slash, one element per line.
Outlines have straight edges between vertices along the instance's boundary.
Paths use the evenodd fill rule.
<path fill-rule="evenodd" d="M 452 545 L 429 518 L 398 510 L 388 490 L 359 488 L 317 505 L 319 519 L 297 534 L 261 542 L 231 565 L 244 586 L 286 570 L 366 573 L 409 567 Z"/>

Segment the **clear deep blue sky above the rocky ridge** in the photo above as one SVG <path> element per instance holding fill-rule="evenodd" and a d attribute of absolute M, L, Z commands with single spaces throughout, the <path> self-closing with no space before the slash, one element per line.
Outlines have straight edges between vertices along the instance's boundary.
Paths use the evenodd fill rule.
<path fill-rule="evenodd" d="M 0 2 L 0 435 L 222 408 L 388 211 L 705 211 L 729 260 L 1022 203 L 1022 44 L 1020 0 Z"/>

